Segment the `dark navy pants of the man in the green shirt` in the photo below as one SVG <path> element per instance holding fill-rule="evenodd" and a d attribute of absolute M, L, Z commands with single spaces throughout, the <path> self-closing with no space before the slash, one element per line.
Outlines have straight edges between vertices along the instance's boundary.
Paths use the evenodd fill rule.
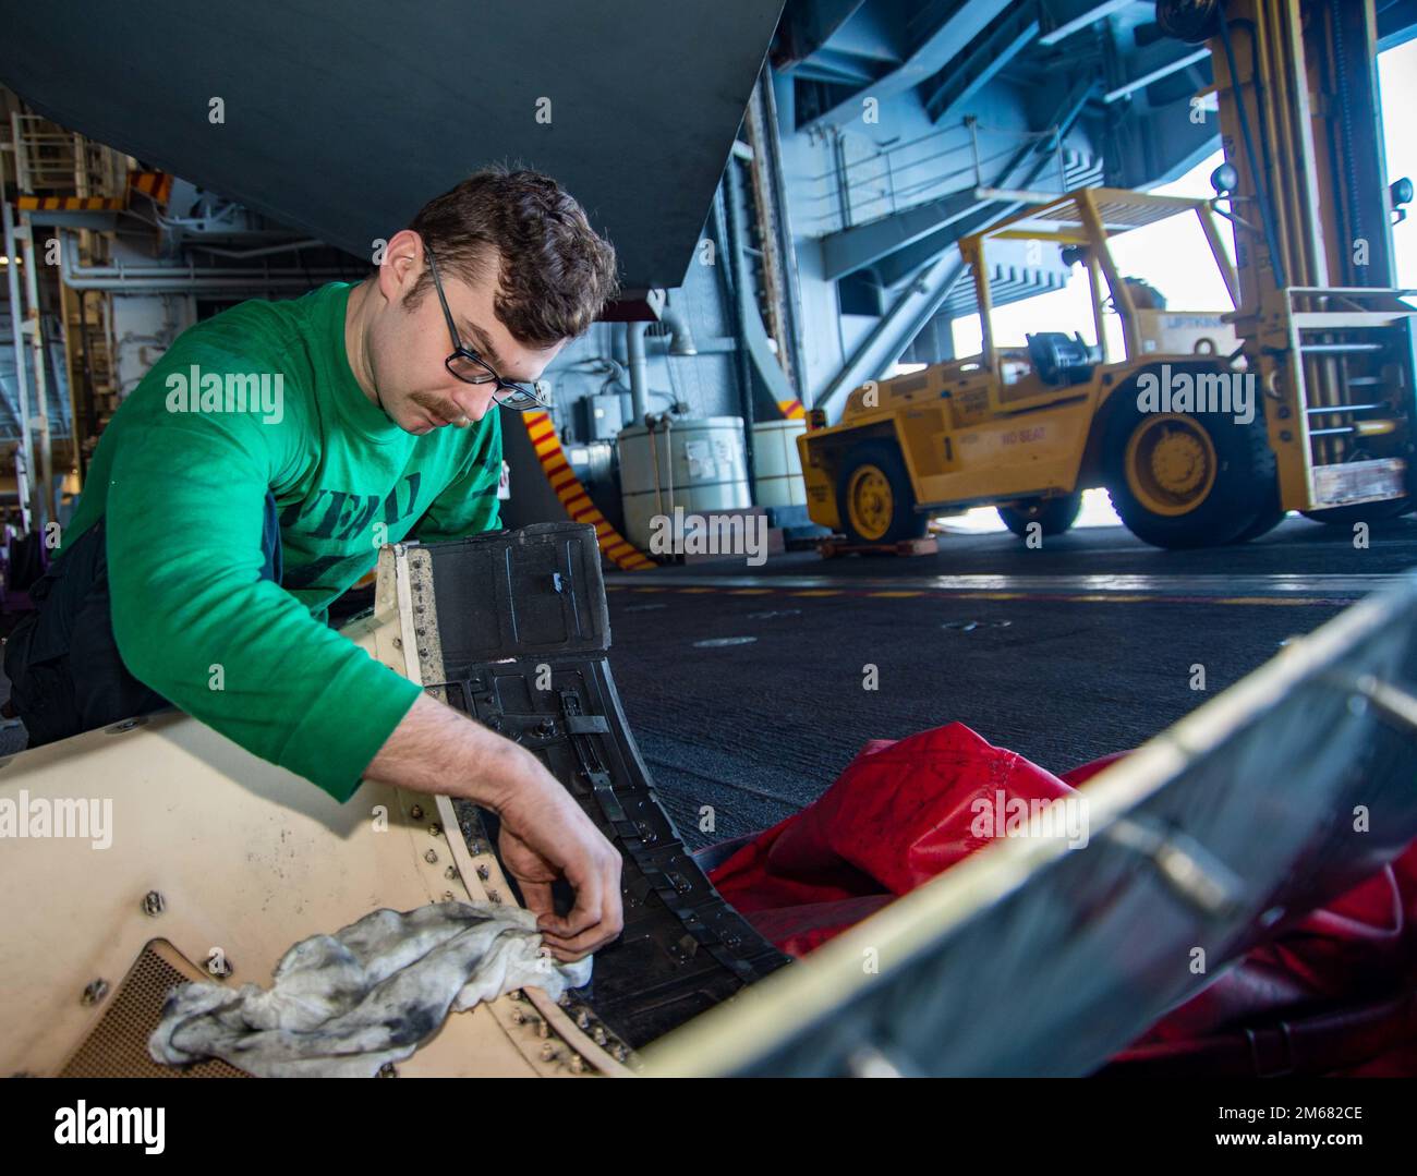
<path fill-rule="evenodd" d="M 89 527 L 30 587 L 35 611 L 10 635 L 4 672 L 10 704 L 24 720 L 30 747 L 106 727 L 170 703 L 128 672 L 113 640 L 108 594 L 108 528 Z M 281 582 L 281 526 L 266 493 L 261 534 L 262 579 Z"/>

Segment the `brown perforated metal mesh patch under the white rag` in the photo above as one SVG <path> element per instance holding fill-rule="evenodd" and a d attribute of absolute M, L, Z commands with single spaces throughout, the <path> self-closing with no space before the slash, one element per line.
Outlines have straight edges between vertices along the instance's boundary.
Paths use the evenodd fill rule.
<path fill-rule="evenodd" d="M 60 1071 L 61 1078 L 249 1078 L 220 1058 L 194 1065 L 162 1065 L 147 1056 L 147 1039 L 162 1020 L 167 993 L 187 980 L 205 980 L 201 969 L 166 939 L 150 939 L 139 952 L 94 1031 Z"/>

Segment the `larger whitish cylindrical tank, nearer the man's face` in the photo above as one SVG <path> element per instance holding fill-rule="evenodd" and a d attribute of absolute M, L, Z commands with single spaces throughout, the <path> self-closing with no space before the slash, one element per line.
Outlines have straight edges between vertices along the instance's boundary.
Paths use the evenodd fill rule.
<path fill-rule="evenodd" d="M 625 537 L 640 551 L 649 548 L 650 520 L 672 516 L 676 506 L 684 514 L 752 506 L 741 417 L 672 421 L 667 428 L 659 425 L 653 438 L 643 425 L 631 425 L 621 429 L 615 448 Z"/>

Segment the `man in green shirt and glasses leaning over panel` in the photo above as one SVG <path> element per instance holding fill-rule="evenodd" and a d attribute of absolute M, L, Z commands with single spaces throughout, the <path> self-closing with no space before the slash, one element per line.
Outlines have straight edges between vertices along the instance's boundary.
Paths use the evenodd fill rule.
<path fill-rule="evenodd" d="M 618 935 L 619 856 L 540 761 L 326 623 L 381 544 L 500 526 L 493 405 L 536 407 L 533 381 L 614 293 L 581 207 L 495 167 L 425 205 L 363 282 L 184 332 L 103 431 L 37 622 L 7 648 L 31 745 L 171 701 L 340 801 L 361 779 L 466 796 L 499 813 L 558 958 Z"/>

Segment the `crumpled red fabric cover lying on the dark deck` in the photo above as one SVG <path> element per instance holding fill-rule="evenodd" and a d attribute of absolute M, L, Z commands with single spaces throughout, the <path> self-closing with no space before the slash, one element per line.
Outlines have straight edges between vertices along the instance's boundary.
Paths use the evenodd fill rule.
<path fill-rule="evenodd" d="M 873 740 L 818 801 L 760 833 L 711 880 L 768 939 L 802 956 L 992 840 L 995 830 L 975 820 L 976 801 L 1068 796 L 1125 754 L 1056 776 L 961 723 L 898 741 Z M 1413 983 L 1417 843 L 1251 951 L 1136 1046 L 1190 1040 L 1264 1010 Z M 1417 1050 L 1407 1050 L 1365 1073 L 1414 1073 Z"/>

